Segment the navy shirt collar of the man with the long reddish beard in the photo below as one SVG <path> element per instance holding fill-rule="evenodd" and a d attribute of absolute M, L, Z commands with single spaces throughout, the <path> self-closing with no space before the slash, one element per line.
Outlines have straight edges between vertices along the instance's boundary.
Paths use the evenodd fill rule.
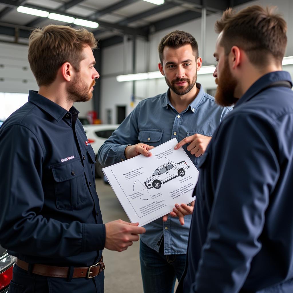
<path fill-rule="evenodd" d="M 244 95 L 237 101 L 234 106 L 239 107 L 239 105 L 247 102 L 254 96 L 256 96 L 263 88 L 269 86 L 273 82 L 277 81 L 289 81 L 292 86 L 292 80 L 289 72 L 287 71 L 274 71 L 267 73 L 255 81 L 250 88 L 244 93 Z"/>

